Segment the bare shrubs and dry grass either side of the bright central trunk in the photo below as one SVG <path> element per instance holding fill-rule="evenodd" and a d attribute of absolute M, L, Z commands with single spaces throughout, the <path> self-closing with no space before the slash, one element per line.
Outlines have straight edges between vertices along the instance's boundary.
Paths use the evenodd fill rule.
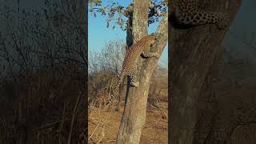
<path fill-rule="evenodd" d="M 120 100 L 116 98 L 110 110 L 106 110 L 106 102 L 118 80 L 124 54 L 125 42 L 119 39 L 107 42 L 101 52 L 89 54 L 89 143 L 114 143 L 117 137 L 125 106 L 126 79 L 119 90 Z M 167 88 L 167 70 L 158 66 L 151 78 L 141 143 L 167 143 Z"/>

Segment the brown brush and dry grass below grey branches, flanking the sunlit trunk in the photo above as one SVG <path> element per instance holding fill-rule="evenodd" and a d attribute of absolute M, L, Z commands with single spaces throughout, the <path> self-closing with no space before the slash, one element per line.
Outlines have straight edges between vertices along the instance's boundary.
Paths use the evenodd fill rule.
<path fill-rule="evenodd" d="M 96 70 L 95 70 L 96 71 Z M 141 143 L 167 143 L 168 133 L 168 90 L 167 70 L 158 67 L 151 78 L 146 123 L 142 130 Z M 89 143 L 114 143 L 117 138 L 125 106 L 126 80 L 122 83 L 119 110 L 118 98 L 106 109 L 108 96 L 113 91 L 117 78 L 104 69 L 89 77 Z"/>

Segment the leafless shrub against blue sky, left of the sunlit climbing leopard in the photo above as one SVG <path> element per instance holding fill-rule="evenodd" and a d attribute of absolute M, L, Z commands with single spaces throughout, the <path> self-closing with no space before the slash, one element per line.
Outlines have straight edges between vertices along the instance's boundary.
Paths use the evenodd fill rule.
<path fill-rule="evenodd" d="M 122 69 L 125 54 L 124 43 L 116 39 L 107 42 L 100 52 L 90 52 L 89 56 L 89 102 L 107 100 L 108 94 L 117 82 L 117 75 Z M 96 104 L 95 103 L 95 104 Z"/>

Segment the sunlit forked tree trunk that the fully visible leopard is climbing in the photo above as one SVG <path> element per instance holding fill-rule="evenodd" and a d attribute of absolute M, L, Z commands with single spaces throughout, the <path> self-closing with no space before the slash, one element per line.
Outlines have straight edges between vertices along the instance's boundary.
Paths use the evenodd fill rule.
<path fill-rule="evenodd" d="M 134 42 L 137 42 L 140 38 L 147 35 L 149 4 L 150 0 L 134 0 L 134 13 L 132 19 L 132 35 L 134 37 Z M 162 50 L 166 46 L 168 37 L 167 18 L 167 14 L 165 14 L 158 26 L 156 32 L 158 40 L 150 50 L 152 52 L 162 54 Z M 127 34 L 127 36 L 129 35 Z M 122 122 L 119 127 L 118 138 L 116 141 L 118 144 L 138 144 L 140 141 L 142 126 L 146 120 L 146 103 L 150 87 L 150 78 L 157 63 L 158 59 L 156 58 L 141 58 L 138 62 L 137 67 L 140 74 L 138 74 L 136 78 L 140 84 L 137 88 L 127 87 L 126 107 L 122 115 Z"/>

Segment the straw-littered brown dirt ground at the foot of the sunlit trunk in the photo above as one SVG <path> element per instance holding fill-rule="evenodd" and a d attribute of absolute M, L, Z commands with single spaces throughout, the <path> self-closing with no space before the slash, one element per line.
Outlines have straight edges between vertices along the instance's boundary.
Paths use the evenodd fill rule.
<path fill-rule="evenodd" d="M 159 101 L 157 106 L 154 106 L 154 104 L 150 105 L 149 103 L 150 102 L 148 102 L 146 112 L 146 124 L 142 130 L 140 143 L 167 143 L 168 118 L 166 114 L 168 102 Z M 110 112 L 106 112 L 93 106 L 90 106 L 89 110 L 90 115 L 88 123 L 88 143 L 96 143 L 98 141 L 102 141 L 102 143 L 106 144 L 114 143 L 118 134 L 118 128 L 121 122 L 124 104 L 121 105 L 119 111 L 110 110 Z"/>

